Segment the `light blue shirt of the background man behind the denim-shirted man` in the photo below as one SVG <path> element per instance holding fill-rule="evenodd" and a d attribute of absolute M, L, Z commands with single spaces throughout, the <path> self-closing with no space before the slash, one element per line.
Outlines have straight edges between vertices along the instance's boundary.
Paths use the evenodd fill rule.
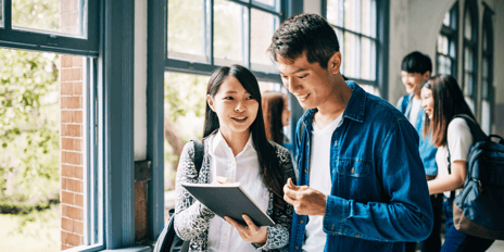
<path fill-rule="evenodd" d="M 410 113 L 412 112 L 412 102 L 413 93 L 407 94 L 399 99 L 398 108 L 406 118 L 410 117 Z M 426 171 L 426 175 L 436 176 L 438 175 L 438 164 L 436 163 L 436 153 L 438 149 L 432 144 L 432 133 L 429 134 L 426 138 L 424 138 L 424 121 L 426 117 L 426 113 L 424 108 L 420 106 L 420 111 L 418 111 L 418 116 L 416 119 L 416 124 L 413 125 L 420 137 L 420 159 L 424 163 L 424 168 Z"/>

